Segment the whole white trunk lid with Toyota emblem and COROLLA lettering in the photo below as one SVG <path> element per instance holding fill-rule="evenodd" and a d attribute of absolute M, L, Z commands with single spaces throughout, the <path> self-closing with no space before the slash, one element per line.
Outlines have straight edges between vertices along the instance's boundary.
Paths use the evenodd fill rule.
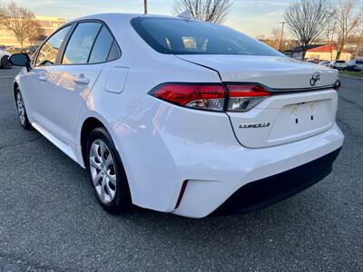
<path fill-rule="evenodd" d="M 337 92 L 332 88 L 338 79 L 335 70 L 285 57 L 178 57 L 217 71 L 227 86 L 259 83 L 271 92 L 269 98 L 248 112 L 227 112 L 243 146 L 261 148 L 299 141 L 334 125 L 338 104 Z"/>

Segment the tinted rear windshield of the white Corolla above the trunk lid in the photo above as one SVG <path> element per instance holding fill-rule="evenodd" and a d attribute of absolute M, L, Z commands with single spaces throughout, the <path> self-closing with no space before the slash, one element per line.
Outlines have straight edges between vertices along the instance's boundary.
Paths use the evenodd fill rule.
<path fill-rule="evenodd" d="M 285 56 L 220 24 L 177 18 L 139 17 L 132 19 L 132 26 L 159 53 Z"/>

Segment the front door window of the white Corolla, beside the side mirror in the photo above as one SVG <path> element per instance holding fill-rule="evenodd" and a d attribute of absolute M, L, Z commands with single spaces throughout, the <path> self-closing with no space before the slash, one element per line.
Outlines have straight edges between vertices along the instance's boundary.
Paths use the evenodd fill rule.
<path fill-rule="evenodd" d="M 62 28 L 53 34 L 53 36 L 45 44 L 43 44 L 36 58 L 35 66 L 53 65 L 55 63 L 59 49 L 70 29 L 71 25 Z"/>

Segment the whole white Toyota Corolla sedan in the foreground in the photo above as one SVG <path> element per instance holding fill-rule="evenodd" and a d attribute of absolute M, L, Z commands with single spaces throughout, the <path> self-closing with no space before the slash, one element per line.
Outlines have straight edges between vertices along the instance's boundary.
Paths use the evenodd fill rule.
<path fill-rule="evenodd" d="M 11 62 L 23 128 L 87 169 L 113 213 L 260 209 L 326 177 L 343 144 L 337 71 L 220 24 L 86 16 Z"/>

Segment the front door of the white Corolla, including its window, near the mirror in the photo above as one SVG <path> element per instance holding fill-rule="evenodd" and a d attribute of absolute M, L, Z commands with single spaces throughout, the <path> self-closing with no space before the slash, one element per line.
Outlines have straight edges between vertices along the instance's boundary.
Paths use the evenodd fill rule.
<path fill-rule="evenodd" d="M 49 122 L 44 112 L 48 106 L 44 93 L 49 92 L 49 73 L 71 28 L 72 25 L 64 26 L 45 41 L 32 60 L 32 69 L 22 78 L 22 94 L 30 121 L 41 126 Z"/>

